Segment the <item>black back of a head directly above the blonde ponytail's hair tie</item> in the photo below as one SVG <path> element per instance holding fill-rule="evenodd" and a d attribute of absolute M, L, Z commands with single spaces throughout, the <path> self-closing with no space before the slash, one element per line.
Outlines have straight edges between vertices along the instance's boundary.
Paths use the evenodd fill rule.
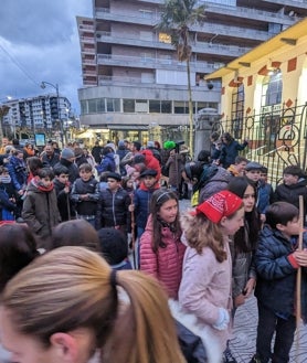
<path fill-rule="evenodd" d="M 128 244 L 124 234 L 115 228 L 98 231 L 100 250 L 109 265 L 121 263 L 128 256 Z"/>

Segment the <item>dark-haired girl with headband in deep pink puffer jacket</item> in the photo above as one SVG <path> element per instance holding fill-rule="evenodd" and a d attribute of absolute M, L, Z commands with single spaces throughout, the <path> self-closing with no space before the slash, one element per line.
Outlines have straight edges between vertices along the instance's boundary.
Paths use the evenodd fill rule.
<path fill-rule="evenodd" d="M 186 250 L 180 237 L 178 197 L 173 192 L 157 190 L 140 238 L 140 270 L 156 277 L 173 299 L 178 298 Z"/>

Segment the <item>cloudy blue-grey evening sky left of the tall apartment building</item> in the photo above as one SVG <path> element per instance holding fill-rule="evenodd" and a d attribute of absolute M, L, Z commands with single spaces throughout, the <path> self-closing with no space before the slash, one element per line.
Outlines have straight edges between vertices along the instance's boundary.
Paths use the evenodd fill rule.
<path fill-rule="evenodd" d="M 92 0 L 1 0 L 0 103 L 55 93 L 59 84 L 80 114 L 82 67 L 76 15 L 92 17 Z"/>

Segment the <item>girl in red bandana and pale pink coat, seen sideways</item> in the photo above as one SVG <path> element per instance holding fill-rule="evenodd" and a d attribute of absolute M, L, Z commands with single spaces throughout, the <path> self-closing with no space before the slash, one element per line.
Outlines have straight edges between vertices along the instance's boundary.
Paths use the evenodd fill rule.
<path fill-rule="evenodd" d="M 229 236 L 243 224 L 243 201 L 230 191 L 213 194 L 197 206 L 195 212 L 181 218 L 188 248 L 179 303 L 183 311 L 197 318 L 202 332 L 210 337 L 203 341 L 209 362 L 220 362 L 226 350 L 232 309 Z"/>

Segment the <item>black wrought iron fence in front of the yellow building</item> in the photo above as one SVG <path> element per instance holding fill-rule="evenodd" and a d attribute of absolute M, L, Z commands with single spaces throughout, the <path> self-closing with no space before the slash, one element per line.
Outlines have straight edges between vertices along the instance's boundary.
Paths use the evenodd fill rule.
<path fill-rule="evenodd" d="M 237 140 L 248 139 L 248 149 L 242 154 L 267 167 L 273 185 L 279 183 L 283 170 L 289 164 L 298 164 L 306 171 L 307 104 L 266 106 L 258 115 L 214 122 L 212 131 L 230 132 Z"/>

